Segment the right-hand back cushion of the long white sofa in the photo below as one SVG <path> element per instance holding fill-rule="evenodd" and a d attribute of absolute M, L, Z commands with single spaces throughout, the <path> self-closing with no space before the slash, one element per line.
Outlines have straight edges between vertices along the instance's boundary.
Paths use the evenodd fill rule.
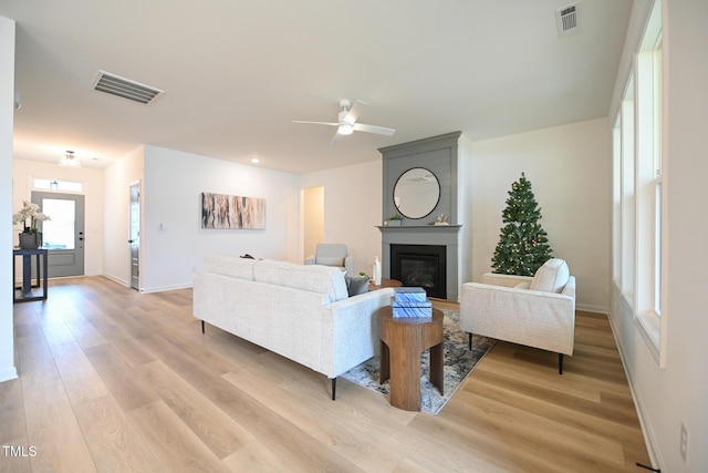
<path fill-rule="evenodd" d="M 253 266 L 253 280 L 323 294 L 331 302 L 348 297 L 344 274 L 330 266 L 263 259 Z"/>

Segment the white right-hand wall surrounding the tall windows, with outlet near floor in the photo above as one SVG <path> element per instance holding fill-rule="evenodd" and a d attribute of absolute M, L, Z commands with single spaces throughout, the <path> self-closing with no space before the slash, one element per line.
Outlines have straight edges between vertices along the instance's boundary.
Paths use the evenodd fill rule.
<path fill-rule="evenodd" d="M 650 2 L 637 2 L 626 55 L 635 51 Z M 660 368 L 634 323 L 632 307 L 613 285 L 611 321 L 620 345 L 656 465 L 667 472 L 702 472 L 708 465 L 708 2 L 664 2 L 663 188 L 668 237 L 666 290 L 666 368 Z M 620 74 L 616 95 L 626 83 Z M 615 96 L 614 103 L 618 103 Z M 614 116 L 616 106 L 611 111 Z M 680 425 L 688 430 L 688 462 L 679 454 Z"/>

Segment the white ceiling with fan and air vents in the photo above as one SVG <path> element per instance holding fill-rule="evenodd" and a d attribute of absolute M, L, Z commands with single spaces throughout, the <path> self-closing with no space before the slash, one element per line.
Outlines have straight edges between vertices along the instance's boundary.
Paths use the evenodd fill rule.
<path fill-rule="evenodd" d="M 472 141 L 606 116 L 631 0 L 7 0 L 17 21 L 15 157 L 72 150 L 105 167 L 140 144 L 291 173 L 377 160 L 461 131 Z M 166 93 L 92 89 L 98 70 Z M 330 146 L 340 99 L 363 100 Z"/>

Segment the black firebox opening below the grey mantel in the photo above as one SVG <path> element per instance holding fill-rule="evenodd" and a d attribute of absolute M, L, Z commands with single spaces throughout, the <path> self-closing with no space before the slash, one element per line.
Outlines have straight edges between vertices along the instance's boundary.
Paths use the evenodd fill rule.
<path fill-rule="evenodd" d="M 446 253 L 444 245 L 391 245 L 391 277 L 446 299 Z"/>

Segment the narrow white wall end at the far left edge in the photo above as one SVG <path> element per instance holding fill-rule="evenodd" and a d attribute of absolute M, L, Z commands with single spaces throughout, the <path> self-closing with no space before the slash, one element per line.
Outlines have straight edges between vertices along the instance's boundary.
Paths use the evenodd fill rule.
<path fill-rule="evenodd" d="M 14 120 L 14 21 L 0 17 L 0 215 L 7 216 L 0 224 L 0 287 L 13 284 L 10 248 L 12 239 L 12 130 Z M 17 236 L 14 236 L 17 238 Z M 14 327 L 12 323 L 12 297 L 6 290 L 0 299 L 0 381 L 17 378 L 14 367 Z"/>

